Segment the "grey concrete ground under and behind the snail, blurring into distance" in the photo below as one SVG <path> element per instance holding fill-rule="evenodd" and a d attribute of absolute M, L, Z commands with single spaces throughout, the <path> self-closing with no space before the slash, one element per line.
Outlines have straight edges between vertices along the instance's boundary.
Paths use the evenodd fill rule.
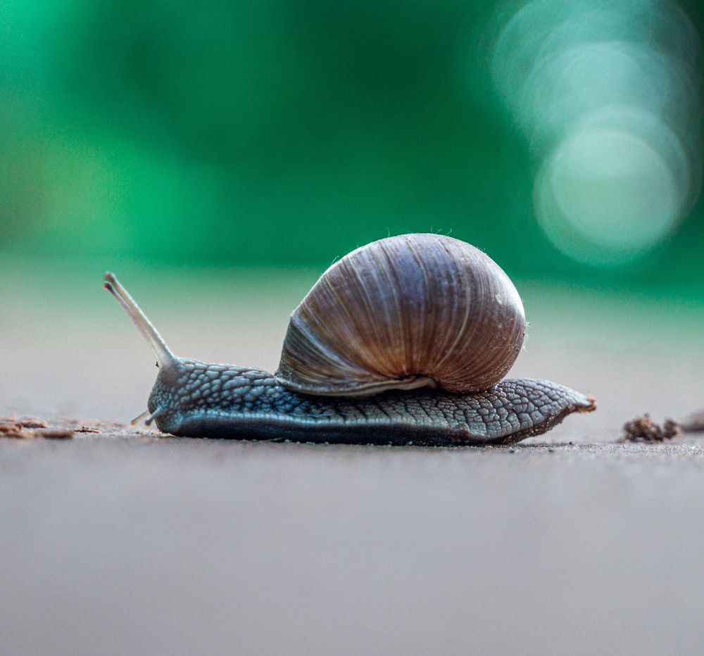
<path fill-rule="evenodd" d="M 704 436 L 619 441 L 704 407 L 688 293 L 519 284 L 511 375 L 598 400 L 545 436 L 315 446 L 127 425 L 151 353 L 101 270 L 49 268 L 0 264 L 0 415 L 100 432 L 0 439 L 1 654 L 701 652 Z M 125 269 L 177 353 L 268 369 L 310 282 Z"/>

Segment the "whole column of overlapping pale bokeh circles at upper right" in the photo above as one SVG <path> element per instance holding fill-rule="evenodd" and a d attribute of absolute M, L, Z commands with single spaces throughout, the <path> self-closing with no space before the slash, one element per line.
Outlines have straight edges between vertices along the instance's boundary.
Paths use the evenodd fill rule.
<path fill-rule="evenodd" d="M 535 0 L 505 20 L 492 77 L 536 160 L 534 210 L 579 262 L 627 265 L 700 188 L 700 40 L 661 0 Z"/>

